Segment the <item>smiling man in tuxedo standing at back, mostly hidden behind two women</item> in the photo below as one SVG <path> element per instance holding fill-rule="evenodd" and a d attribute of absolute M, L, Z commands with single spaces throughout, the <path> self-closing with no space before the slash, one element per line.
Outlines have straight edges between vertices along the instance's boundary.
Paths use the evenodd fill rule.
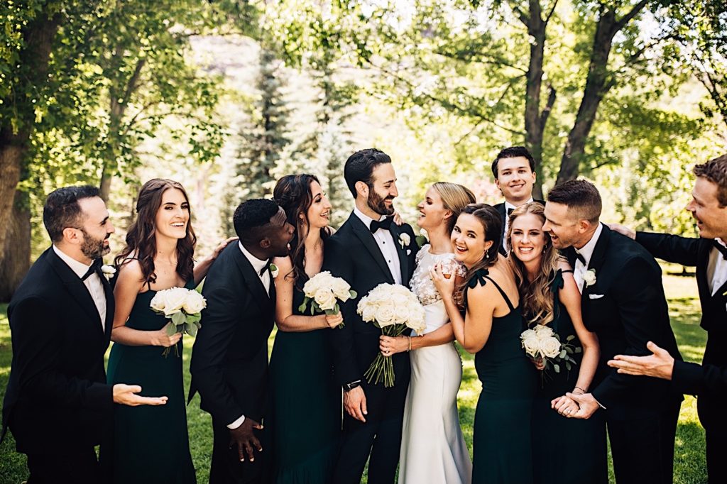
<path fill-rule="evenodd" d="M 510 213 L 518 206 L 534 201 L 535 160 L 524 146 L 503 148 L 492 162 L 492 175 L 495 177 L 495 185 L 505 197 L 505 201 L 497 203 L 494 208 L 497 209 L 502 219 L 499 253 L 507 256 L 510 247 L 505 241 L 505 234 L 510 225 Z M 545 201 L 535 201 L 545 205 Z"/>

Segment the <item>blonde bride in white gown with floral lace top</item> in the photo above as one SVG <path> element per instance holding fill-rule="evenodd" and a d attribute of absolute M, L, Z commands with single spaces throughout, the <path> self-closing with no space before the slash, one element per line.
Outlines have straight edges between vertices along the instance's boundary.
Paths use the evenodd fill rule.
<path fill-rule="evenodd" d="M 457 413 L 462 360 L 441 296 L 429 275 L 437 262 L 443 262 L 445 272 L 449 269 L 453 277 L 465 275 L 465 267 L 454 260 L 449 235 L 468 203 L 475 203 L 475 196 L 462 185 L 438 182 L 427 190 L 418 206 L 417 225 L 427 231 L 430 243 L 417 254 L 410 283 L 425 307 L 427 328 L 422 336 L 380 339 L 382 352 L 411 351 L 398 484 L 470 484 L 472 480 L 472 460 Z"/>

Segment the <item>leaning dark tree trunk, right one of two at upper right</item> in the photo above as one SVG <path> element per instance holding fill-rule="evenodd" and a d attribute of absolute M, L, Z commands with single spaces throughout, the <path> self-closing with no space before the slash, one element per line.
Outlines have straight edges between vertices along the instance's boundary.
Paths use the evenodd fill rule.
<path fill-rule="evenodd" d="M 598 19 L 595 35 L 593 36 L 593 51 L 591 52 L 583 98 L 578 108 L 576 121 L 571 128 L 571 132 L 568 134 L 566 147 L 563 150 L 561 169 L 558 172 L 558 180 L 555 182 L 556 185 L 566 180 L 574 180 L 578 177 L 588 135 L 593 126 L 593 121 L 595 121 L 595 115 L 598 112 L 598 105 L 601 103 L 603 96 L 613 86 L 613 81 L 608 78 L 608 56 L 611 54 L 611 44 L 614 36 L 643 7 L 646 7 L 647 3 L 647 0 L 641 0 L 621 19 L 616 19 L 616 12 L 614 10 L 601 13 L 601 18 Z"/>

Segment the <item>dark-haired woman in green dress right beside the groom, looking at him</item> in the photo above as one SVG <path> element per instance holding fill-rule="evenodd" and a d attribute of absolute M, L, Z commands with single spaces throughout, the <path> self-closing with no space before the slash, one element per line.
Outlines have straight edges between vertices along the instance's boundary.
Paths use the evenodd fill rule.
<path fill-rule="evenodd" d="M 270 358 L 273 483 L 327 484 L 338 450 L 341 387 L 333 379 L 326 331 L 340 315 L 303 315 L 302 286 L 320 272 L 331 204 L 313 175 L 278 180 L 273 198 L 296 227 L 291 256 L 276 258 L 276 334 Z M 275 272 L 275 271 L 273 271 Z M 308 309 L 308 308 L 306 308 Z"/>

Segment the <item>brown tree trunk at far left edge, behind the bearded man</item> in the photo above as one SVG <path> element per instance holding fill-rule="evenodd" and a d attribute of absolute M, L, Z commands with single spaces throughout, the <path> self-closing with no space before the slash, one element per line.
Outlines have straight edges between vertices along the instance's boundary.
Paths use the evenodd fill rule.
<path fill-rule="evenodd" d="M 23 33 L 25 49 L 20 52 L 20 64 L 28 66 L 28 74 L 24 77 L 26 84 L 17 86 L 15 89 L 17 92 L 39 91 L 46 84 L 48 60 L 59 23 L 60 14 L 48 17 L 46 12 L 41 12 L 36 20 L 28 24 L 28 28 Z M 15 105 L 17 112 L 26 113 L 27 116 L 21 121 L 20 129 L 14 130 L 7 124 L 0 125 L 0 274 L 3 279 L 8 278 L 7 281 L 0 282 L 3 286 L 0 291 L 1 297 L 4 299 L 7 294 L 15 291 L 16 286 L 13 284 L 17 285 L 20 282 L 15 281 L 16 277 L 13 274 L 23 267 L 25 270 L 28 268 L 27 261 L 15 260 L 18 254 L 29 253 L 30 236 L 16 237 L 20 229 L 16 219 L 21 214 L 18 214 L 14 207 L 17 191 L 15 188 L 20 182 L 20 173 L 28 152 L 35 115 L 31 99 L 25 98 L 24 94 L 18 95 L 17 99 L 3 100 L 3 102 L 6 105 Z M 7 121 L 3 120 L 3 122 Z M 22 217 L 25 215 L 22 214 Z M 29 215 L 26 218 L 29 220 Z M 8 244 L 8 241 L 12 241 L 12 243 Z"/>

